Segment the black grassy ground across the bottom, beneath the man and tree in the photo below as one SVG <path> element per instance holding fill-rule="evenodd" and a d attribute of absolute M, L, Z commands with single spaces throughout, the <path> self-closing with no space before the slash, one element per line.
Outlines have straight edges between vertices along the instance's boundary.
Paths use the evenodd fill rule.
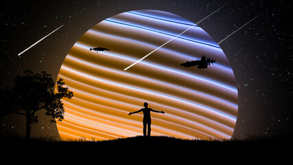
<path fill-rule="evenodd" d="M 117 140 L 69 140 L 57 141 L 50 137 L 25 138 L 1 136 L 1 157 L 16 155 L 18 161 L 31 162 L 36 157 L 42 162 L 69 164 L 93 161 L 102 164 L 204 164 L 211 163 L 256 163 L 289 161 L 292 155 L 292 132 L 274 133 L 266 137 L 248 136 L 245 140 L 182 140 L 174 137 L 126 137 Z M 231 159 L 235 158 L 235 159 Z M 78 163 L 79 164 L 79 163 Z"/>

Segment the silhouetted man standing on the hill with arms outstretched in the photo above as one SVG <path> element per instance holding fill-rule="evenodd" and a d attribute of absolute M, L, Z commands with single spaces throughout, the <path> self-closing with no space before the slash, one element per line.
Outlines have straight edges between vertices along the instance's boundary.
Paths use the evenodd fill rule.
<path fill-rule="evenodd" d="M 131 115 L 133 113 L 139 113 L 143 111 L 143 136 L 146 136 L 146 125 L 148 124 L 148 136 L 150 136 L 150 111 L 156 112 L 156 113 L 165 113 L 164 111 L 156 111 L 154 109 L 148 108 L 148 102 L 145 102 L 144 104 L 145 108 L 140 109 L 139 111 L 130 112 L 128 115 Z"/>

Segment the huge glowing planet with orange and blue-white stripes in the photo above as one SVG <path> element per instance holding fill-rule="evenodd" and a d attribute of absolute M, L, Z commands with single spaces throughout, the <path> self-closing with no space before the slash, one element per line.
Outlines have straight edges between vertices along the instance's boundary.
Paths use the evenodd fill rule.
<path fill-rule="evenodd" d="M 124 71 L 192 25 L 169 12 L 136 10 L 83 34 L 58 74 L 74 94 L 62 100 L 65 120 L 57 122 L 62 140 L 143 135 L 143 113 L 128 113 L 144 102 L 165 111 L 151 113 L 152 135 L 231 138 L 238 111 L 235 76 L 220 46 L 198 25 Z M 110 51 L 90 51 L 93 47 Z M 207 69 L 180 65 L 203 55 L 216 63 Z"/>

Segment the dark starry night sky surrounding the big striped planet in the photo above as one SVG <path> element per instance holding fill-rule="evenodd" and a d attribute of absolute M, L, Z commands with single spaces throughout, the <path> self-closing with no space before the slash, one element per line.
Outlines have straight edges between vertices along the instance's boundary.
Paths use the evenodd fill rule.
<path fill-rule="evenodd" d="M 163 10 L 197 23 L 228 1 L 1 1 L 0 87 L 13 87 L 25 69 L 46 71 L 56 80 L 62 62 L 76 41 L 95 24 L 130 10 Z M 198 25 L 216 42 L 262 14 L 220 47 L 231 63 L 239 92 L 233 137 L 266 135 L 292 128 L 292 2 L 231 1 Z M 18 56 L 56 28 L 60 30 Z M 66 111 L 66 110 L 65 110 Z M 32 136 L 56 136 L 43 112 Z M 3 116 L 0 131 L 25 133 L 25 118 Z"/>

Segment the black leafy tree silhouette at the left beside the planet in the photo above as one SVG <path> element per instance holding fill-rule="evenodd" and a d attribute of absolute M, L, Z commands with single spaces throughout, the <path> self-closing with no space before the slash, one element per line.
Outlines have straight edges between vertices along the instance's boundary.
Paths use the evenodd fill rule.
<path fill-rule="evenodd" d="M 69 91 L 67 87 L 63 87 L 65 83 L 62 78 L 56 82 L 56 92 L 54 85 L 51 74 L 47 74 L 47 72 L 34 74 L 32 70 L 26 70 L 22 75 L 15 77 L 15 85 L 10 92 L 8 89 L 1 90 L 6 94 L 3 97 L 9 98 L 8 102 L 1 101 L 2 104 L 9 107 L 5 108 L 6 111 L 3 111 L 1 115 L 7 113 L 25 115 L 27 140 L 30 140 L 30 125 L 38 122 L 36 111 L 45 109 L 45 114 L 52 118 L 51 122 L 64 119 L 65 108 L 61 99 L 70 99 L 73 97 L 73 92 Z"/>

